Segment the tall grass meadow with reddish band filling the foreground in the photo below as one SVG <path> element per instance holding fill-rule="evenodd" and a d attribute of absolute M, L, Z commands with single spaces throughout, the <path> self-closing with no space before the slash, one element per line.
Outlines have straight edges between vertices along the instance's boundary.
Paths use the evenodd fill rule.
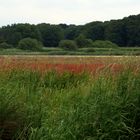
<path fill-rule="evenodd" d="M 0 140 L 139 140 L 140 57 L 0 57 Z"/>

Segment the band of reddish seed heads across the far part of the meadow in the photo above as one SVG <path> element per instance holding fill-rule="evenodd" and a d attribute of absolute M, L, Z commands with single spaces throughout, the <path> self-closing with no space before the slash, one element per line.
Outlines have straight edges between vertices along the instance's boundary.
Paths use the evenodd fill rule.
<path fill-rule="evenodd" d="M 88 58 L 89 59 L 89 58 Z M 32 70 L 32 71 L 40 71 L 41 73 L 54 70 L 58 73 L 64 73 L 64 72 L 71 72 L 71 73 L 82 73 L 82 72 L 89 72 L 89 73 L 98 73 L 103 70 L 109 70 L 112 73 L 118 73 L 122 70 L 124 70 L 124 67 L 126 67 L 126 64 L 119 64 L 119 63 L 105 63 L 103 61 L 87 61 L 87 63 L 82 61 L 76 61 L 76 59 L 73 59 L 72 61 L 68 61 L 66 59 L 60 59 L 57 61 L 57 63 L 54 63 L 54 58 L 52 59 L 53 62 L 50 63 L 49 61 L 45 61 L 44 59 L 36 59 L 36 58 L 4 58 L 0 57 L 0 70 L 2 71 L 10 71 L 13 69 L 22 69 L 22 70 Z M 86 58 L 85 58 L 86 60 Z M 85 61 L 84 60 L 84 61 Z M 98 58 L 99 60 L 99 58 Z M 69 63 L 68 63 L 69 62 Z M 76 63 L 77 62 L 77 63 Z M 118 62 L 118 61 L 117 61 Z M 129 66 L 129 68 L 134 69 L 133 66 Z"/>

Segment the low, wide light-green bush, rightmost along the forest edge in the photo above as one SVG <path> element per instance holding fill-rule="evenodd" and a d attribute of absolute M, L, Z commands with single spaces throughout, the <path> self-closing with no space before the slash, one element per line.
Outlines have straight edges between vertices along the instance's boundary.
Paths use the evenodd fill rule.
<path fill-rule="evenodd" d="M 112 43 L 111 41 L 102 41 L 102 40 L 96 40 L 93 42 L 92 46 L 94 48 L 118 48 L 119 46 L 115 43 Z"/>

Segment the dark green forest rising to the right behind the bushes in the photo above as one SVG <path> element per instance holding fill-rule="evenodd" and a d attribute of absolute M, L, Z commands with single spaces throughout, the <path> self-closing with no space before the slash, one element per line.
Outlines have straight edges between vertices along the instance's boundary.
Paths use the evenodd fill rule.
<path fill-rule="evenodd" d="M 25 38 L 36 39 L 45 47 L 57 47 L 61 40 L 108 40 L 118 46 L 140 46 L 140 14 L 120 20 L 95 21 L 85 25 L 41 23 L 12 24 L 0 28 L 0 43 L 17 47 Z"/>

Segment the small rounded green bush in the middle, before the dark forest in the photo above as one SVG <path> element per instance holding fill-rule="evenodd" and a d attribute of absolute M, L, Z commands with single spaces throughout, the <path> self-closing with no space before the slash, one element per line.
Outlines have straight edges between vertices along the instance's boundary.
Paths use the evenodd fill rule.
<path fill-rule="evenodd" d="M 59 47 L 65 50 L 71 50 L 71 51 L 77 49 L 77 45 L 75 41 L 72 41 L 72 40 L 61 40 L 59 42 Z"/>

